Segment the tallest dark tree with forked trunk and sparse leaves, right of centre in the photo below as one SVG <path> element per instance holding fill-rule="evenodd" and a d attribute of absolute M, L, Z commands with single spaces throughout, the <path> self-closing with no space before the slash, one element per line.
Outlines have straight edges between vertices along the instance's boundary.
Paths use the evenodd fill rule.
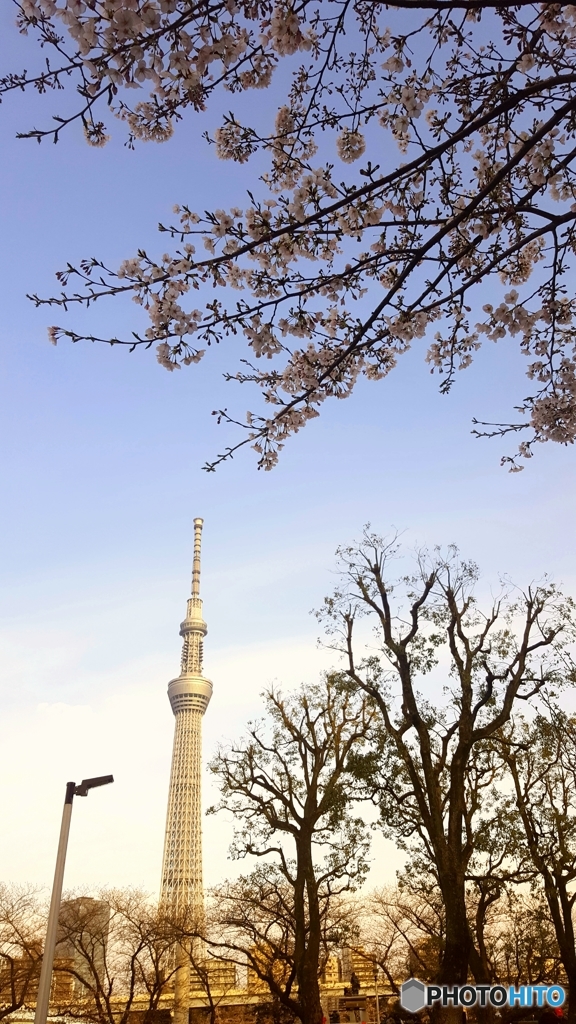
<path fill-rule="evenodd" d="M 341 585 L 321 617 L 359 691 L 376 703 L 379 764 L 356 770 L 380 806 L 386 834 L 434 865 L 446 912 L 439 971 L 464 983 L 483 965 L 468 922 L 466 876 L 496 766 L 489 740 L 519 702 L 575 678 L 569 644 L 575 608 L 547 583 L 504 590 L 487 611 L 475 598 L 478 569 L 421 553 L 415 571 L 393 574 L 396 542 L 365 532 L 339 552 Z M 362 657 L 366 616 L 376 640 Z M 442 696 L 443 694 L 443 696 Z"/>

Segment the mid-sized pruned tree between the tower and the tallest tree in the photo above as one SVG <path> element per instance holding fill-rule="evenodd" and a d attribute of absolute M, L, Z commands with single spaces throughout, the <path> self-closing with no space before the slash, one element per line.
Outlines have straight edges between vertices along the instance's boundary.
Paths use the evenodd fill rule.
<path fill-rule="evenodd" d="M 319 976 L 331 907 L 367 869 L 366 825 L 355 816 L 353 751 L 374 717 L 345 677 L 283 696 L 264 694 L 268 718 L 210 764 L 232 812 L 232 855 L 259 866 L 217 892 L 227 947 L 248 963 L 303 1024 L 320 1024 Z"/>

